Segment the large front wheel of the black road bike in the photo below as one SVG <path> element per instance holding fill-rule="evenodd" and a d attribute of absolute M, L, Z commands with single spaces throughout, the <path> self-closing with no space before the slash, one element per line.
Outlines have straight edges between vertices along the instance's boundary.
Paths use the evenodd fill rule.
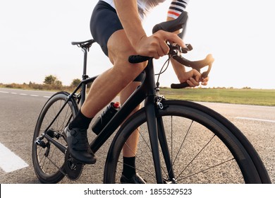
<path fill-rule="evenodd" d="M 164 109 L 157 110 L 157 117 L 169 120 L 164 129 L 169 157 L 176 172 L 175 178 L 169 178 L 169 171 L 164 167 L 166 163 L 161 158 L 164 183 L 271 183 L 255 148 L 225 117 L 189 101 L 164 100 L 163 105 Z M 104 183 L 119 182 L 122 148 L 135 129 L 140 129 L 137 172 L 148 183 L 156 182 L 152 152 L 146 137 L 145 109 L 142 108 L 121 126 L 114 137 L 106 158 Z M 205 140 L 207 137 L 209 139 Z M 163 153 L 161 156 L 167 156 L 165 151 Z"/>

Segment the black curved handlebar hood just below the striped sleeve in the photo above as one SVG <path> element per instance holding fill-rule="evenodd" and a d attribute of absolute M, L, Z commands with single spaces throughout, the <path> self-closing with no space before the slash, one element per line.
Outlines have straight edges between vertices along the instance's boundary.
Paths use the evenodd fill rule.
<path fill-rule="evenodd" d="M 176 30 L 183 29 L 182 32 L 178 34 L 179 37 L 183 38 L 187 20 L 188 20 L 188 13 L 186 11 L 183 11 L 183 13 L 181 13 L 181 15 L 178 16 L 178 18 L 176 18 L 175 20 L 165 21 L 157 25 L 154 25 L 152 32 L 154 34 L 159 30 L 164 30 L 166 32 L 173 33 Z"/>

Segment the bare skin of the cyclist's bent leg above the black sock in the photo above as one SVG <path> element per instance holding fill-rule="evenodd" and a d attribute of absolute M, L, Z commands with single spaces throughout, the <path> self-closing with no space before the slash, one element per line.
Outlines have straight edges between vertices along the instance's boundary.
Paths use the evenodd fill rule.
<path fill-rule="evenodd" d="M 124 30 L 118 30 L 108 41 L 109 59 L 114 66 L 101 74 L 90 88 L 81 112 L 86 117 L 102 110 L 112 99 L 126 88 L 144 69 L 146 62 L 130 64 L 128 57 L 136 54 L 128 41 Z"/>

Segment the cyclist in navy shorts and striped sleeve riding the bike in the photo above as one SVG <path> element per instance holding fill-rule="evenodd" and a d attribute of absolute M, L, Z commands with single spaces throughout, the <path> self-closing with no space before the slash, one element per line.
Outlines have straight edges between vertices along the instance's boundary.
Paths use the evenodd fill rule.
<path fill-rule="evenodd" d="M 142 28 L 142 19 L 151 8 L 165 0 L 100 0 L 94 7 L 90 21 L 92 37 L 102 47 L 103 52 L 114 65 L 101 74 L 90 88 L 85 103 L 78 115 L 65 129 L 68 150 L 71 156 L 82 163 L 95 163 L 96 158 L 89 150 L 87 129 L 92 118 L 121 93 L 123 104 L 128 96 L 140 85 L 147 62 L 130 64 L 128 57 L 139 54 L 147 57 L 159 57 L 168 54 L 166 41 L 185 47 L 183 40 L 176 33 L 162 30 L 147 36 Z M 177 18 L 185 10 L 189 0 L 172 0 L 167 20 Z M 201 79 L 196 70 L 185 71 L 185 67 L 171 60 L 178 80 L 187 82 L 189 86 L 207 85 L 208 78 Z M 107 84 L 108 86 L 105 86 Z M 102 89 L 104 87 L 104 89 Z M 140 107 L 137 107 L 138 110 Z M 128 139 L 128 146 L 123 148 L 123 175 L 121 182 L 145 183 L 135 173 L 135 151 L 138 142 L 138 132 Z M 130 147 L 130 148 L 129 148 Z"/>

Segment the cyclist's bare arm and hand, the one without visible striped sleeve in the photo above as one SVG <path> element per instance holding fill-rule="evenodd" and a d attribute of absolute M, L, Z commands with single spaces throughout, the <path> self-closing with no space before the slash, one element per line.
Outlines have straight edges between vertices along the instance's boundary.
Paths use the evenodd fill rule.
<path fill-rule="evenodd" d="M 123 29 L 137 54 L 158 59 L 169 52 L 166 40 L 184 47 L 181 38 L 174 33 L 158 31 L 147 37 L 138 13 L 137 0 L 114 0 L 114 3 Z"/>

